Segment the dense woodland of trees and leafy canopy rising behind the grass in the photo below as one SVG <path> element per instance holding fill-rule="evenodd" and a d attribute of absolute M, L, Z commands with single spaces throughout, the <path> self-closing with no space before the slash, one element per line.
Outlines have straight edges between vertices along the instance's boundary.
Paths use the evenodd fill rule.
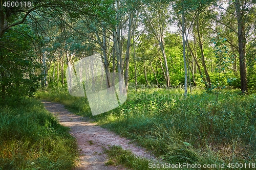
<path fill-rule="evenodd" d="M 41 87 L 65 86 L 67 66 L 96 53 L 126 88 L 255 88 L 254 1 L 5 3 L 2 100 L 32 95 L 39 79 Z"/>

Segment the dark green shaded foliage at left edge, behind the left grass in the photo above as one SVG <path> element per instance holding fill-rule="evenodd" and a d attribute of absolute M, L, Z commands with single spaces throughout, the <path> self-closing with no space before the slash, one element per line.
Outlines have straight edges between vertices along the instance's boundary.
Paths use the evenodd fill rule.
<path fill-rule="evenodd" d="M 17 31 L 22 31 L 20 34 Z M 40 64 L 30 46 L 32 39 L 27 26 L 17 26 L 9 30 L 9 37 L 2 37 L 0 43 L 0 101 L 6 98 L 19 100 L 33 96 L 38 87 Z M 8 45 L 5 44 L 8 42 Z"/>

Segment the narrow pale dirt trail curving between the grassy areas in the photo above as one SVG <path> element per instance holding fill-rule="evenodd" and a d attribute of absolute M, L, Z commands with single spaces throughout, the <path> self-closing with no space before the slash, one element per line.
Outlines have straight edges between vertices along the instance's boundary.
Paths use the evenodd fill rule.
<path fill-rule="evenodd" d="M 152 154 L 130 143 L 130 140 L 89 122 L 88 118 L 69 112 L 63 105 L 48 101 L 42 101 L 42 103 L 48 111 L 59 119 L 61 125 L 70 127 L 70 133 L 77 139 L 80 149 L 80 162 L 76 169 L 126 169 L 121 166 L 106 166 L 104 164 L 107 157 L 103 154 L 102 147 L 107 148 L 108 145 L 120 145 L 123 149 L 132 151 L 136 156 L 155 160 Z"/>

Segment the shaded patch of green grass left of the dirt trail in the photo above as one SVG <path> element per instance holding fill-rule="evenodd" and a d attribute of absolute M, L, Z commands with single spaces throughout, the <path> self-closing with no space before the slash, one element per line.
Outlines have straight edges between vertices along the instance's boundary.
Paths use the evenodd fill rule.
<path fill-rule="evenodd" d="M 0 169 L 72 169 L 77 144 L 69 128 L 35 99 L 1 106 Z"/>

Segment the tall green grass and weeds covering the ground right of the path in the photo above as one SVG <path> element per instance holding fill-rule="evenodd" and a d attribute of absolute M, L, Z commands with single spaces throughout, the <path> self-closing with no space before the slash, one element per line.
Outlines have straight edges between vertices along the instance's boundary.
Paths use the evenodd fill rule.
<path fill-rule="evenodd" d="M 91 116 L 86 98 L 75 98 L 66 91 L 40 92 L 38 96 Z M 121 107 L 93 118 L 168 163 L 227 165 L 256 161 L 255 94 L 193 89 L 185 99 L 179 88 L 130 89 Z"/>

